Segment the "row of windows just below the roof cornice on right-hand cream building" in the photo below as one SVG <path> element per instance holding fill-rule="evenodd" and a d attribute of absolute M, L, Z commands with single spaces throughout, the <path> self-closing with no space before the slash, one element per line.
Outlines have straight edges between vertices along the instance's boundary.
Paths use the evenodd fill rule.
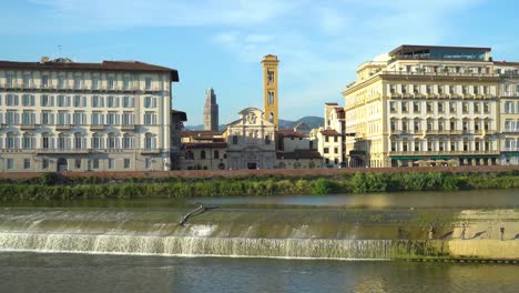
<path fill-rule="evenodd" d="M 491 94 L 488 85 L 418 85 L 418 84 L 389 84 L 391 94 Z"/>

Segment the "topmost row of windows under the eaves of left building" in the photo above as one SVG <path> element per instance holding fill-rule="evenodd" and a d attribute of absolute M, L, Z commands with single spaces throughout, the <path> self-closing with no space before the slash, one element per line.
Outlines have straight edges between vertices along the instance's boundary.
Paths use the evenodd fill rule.
<path fill-rule="evenodd" d="M 16 78 L 13 73 L 6 74 L 6 85 L 13 88 L 13 87 L 23 87 L 23 88 L 31 88 L 34 87 L 34 81 L 40 83 L 42 88 L 50 88 L 52 85 L 53 80 L 49 78 L 49 75 L 41 75 L 41 79 L 33 79 L 30 74 L 23 74 L 21 78 L 21 84 L 19 83 L 19 79 Z M 67 79 L 65 75 L 60 74 L 57 79 L 58 89 L 75 89 L 82 90 L 85 88 L 85 79 L 82 77 L 74 77 L 73 79 Z M 106 88 L 110 90 L 132 90 L 132 85 L 140 83 L 140 81 L 133 81 L 131 78 L 125 77 L 122 79 L 122 88 L 119 88 L 121 81 L 115 79 L 114 77 L 108 77 L 106 80 L 100 79 L 99 77 L 92 77 L 90 80 L 90 87 L 88 89 L 91 90 L 99 90 L 101 88 L 101 83 L 103 81 L 106 82 Z M 152 89 L 152 78 L 144 79 L 144 89 L 151 90 Z"/>

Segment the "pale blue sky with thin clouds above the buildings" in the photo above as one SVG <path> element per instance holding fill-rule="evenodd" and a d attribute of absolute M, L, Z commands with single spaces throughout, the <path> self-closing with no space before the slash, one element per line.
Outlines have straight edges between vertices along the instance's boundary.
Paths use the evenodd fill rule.
<path fill-rule="evenodd" d="M 263 108 L 261 60 L 279 59 L 279 118 L 344 104 L 356 68 L 400 44 L 491 47 L 519 61 L 519 1 L 0 0 L 0 60 L 139 60 L 179 70 L 173 108 L 203 123 L 213 88 L 220 123 Z"/>

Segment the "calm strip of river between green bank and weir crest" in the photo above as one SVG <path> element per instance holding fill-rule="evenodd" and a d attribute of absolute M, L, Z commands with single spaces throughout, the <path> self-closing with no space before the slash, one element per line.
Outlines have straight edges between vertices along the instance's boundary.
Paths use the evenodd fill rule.
<path fill-rule="evenodd" d="M 354 209 L 518 209 L 519 190 L 456 192 L 391 192 L 327 195 L 257 195 L 194 199 L 74 199 L 65 201 L 2 201 L 0 206 L 175 209 L 199 203 L 220 206 L 283 208 L 340 206 Z"/>

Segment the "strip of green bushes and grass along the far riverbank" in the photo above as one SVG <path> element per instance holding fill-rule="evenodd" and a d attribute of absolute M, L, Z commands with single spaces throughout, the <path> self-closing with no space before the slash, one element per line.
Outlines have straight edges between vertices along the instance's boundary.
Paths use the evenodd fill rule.
<path fill-rule="evenodd" d="M 519 189 L 519 170 L 506 172 L 425 172 L 340 175 L 254 175 L 245 178 L 75 178 L 44 173 L 40 178 L 0 181 L 0 199 L 72 200 L 199 198 Z"/>

